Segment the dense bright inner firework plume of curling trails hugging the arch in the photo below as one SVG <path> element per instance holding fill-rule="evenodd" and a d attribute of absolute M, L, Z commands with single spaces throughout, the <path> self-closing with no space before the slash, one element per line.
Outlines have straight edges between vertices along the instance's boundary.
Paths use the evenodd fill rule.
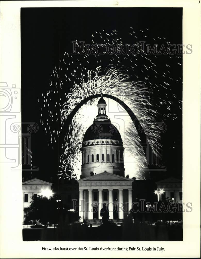
<path fill-rule="evenodd" d="M 123 74 L 121 70 L 110 69 L 105 76 L 99 76 L 98 74 L 100 72 L 100 68 L 98 68 L 94 76 L 92 71 L 89 71 L 88 81 L 86 83 L 83 82 L 83 85 L 80 87 L 79 85 L 75 85 L 75 87 L 71 89 L 71 92 L 67 95 L 68 101 L 63 105 L 65 109 L 61 113 L 62 122 L 68 118 L 68 115 L 76 107 L 76 105 L 86 97 L 98 94 L 101 91 L 105 94 L 116 96 L 121 100 L 123 97 L 123 101 L 131 108 L 136 117 L 139 118 L 141 125 L 147 125 L 147 123 L 152 125 L 152 127 L 149 128 L 147 135 L 152 138 L 154 136 L 156 141 L 151 141 L 150 144 L 154 153 L 159 156 L 158 147 L 160 146 L 160 143 L 157 140 L 159 140 L 160 136 L 156 130 L 156 126 L 154 125 L 155 118 L 149 114 L 149 112 L 154 114 L 156 111 L 150 109 L 150 100 L 144 98 L 145 88 L 139 87 L 142 86 L 142 82 L 130 82 L 129 76 Z M 84 106 L 93 105 L 95 103 L 97 103 L 97 99 L 89 101 Z M 73 118 L 71 135 L 68 135 L 67 137 L 68 141 L 66 141 L 66 145 L 64 147 L 64 155 L 61 157 L 63 162 L 62 171 L 66 171 L 66 169 L 70 166 L 71 173 L 73 173 L 73 175 L 77 175 L 77 168 L 81 166 L 79 165 L 78 167 L 78 161 L 80 162 L 81 160 L 80 148 L 82 146 L 83 135 L 87 129 L 84 124 L 86 117 L 82 116 L 83 108 L 79 109 Z M 129 126 L 125 128 L 125 142 L 127 143 L 127 151 L 132 154 L 133 150 L 135 150 L 135 155 L 137 157 L 143 157 L 143 159 L 139 162 L 140 168 L 143 168 L 146 160 L 136 129 L 134 130 L 134 136 L 135 137 L 133 138 L 133 123 L 131 121 Z"/>

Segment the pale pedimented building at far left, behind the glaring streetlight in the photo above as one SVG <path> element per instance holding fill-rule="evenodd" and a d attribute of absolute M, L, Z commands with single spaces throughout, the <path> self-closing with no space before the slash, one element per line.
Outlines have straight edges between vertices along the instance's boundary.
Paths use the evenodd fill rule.
<path fill-rule="evenodd" d="M 25 214 L 27 207 L 29 207 L 32 200 L 32 196 L 42 195 L 44 192 L 51 191 L 52 183 L 45 182 L 43 180 L 33 178 L 26 182 L 22 182 L 22 192 L 23 192 L 23 220 L 25 219 Z"/>

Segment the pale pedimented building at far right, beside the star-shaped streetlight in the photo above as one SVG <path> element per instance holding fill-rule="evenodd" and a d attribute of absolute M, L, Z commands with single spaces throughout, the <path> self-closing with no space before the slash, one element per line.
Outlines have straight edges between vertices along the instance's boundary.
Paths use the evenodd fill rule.
<path fill-rule="evenodd" d="M 174 202 L 182 202 L 182 180 L 170 177 L 156 184 L 159 200 L 166 198 Z"/>

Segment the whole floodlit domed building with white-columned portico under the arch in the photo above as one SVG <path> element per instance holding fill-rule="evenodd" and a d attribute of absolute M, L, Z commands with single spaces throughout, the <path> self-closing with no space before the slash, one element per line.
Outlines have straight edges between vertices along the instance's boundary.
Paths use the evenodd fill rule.
<path fill-rule="evenodd" d="M 98 101 L 98 115 L 86 130 L 82 142 L 82 168 L 79 182 L 81 221 L 101 220 L 105 203 L 109 220 L 123 221 L 131 209 L 132 182 L 125 176 L 121 135 L 106 114 L 106 102 Z M 81 206 L 82 205 L 82 206 Z"/>

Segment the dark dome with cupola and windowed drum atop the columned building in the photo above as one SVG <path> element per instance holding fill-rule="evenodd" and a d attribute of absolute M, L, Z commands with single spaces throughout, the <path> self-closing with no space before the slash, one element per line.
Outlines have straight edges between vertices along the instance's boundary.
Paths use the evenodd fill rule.
<path fill-rule="evenodd" d="M 98 115 L 82 142 L 82 178 L 107 171 L 124 177 L 124 147 L 121 135 L 106 114 L 106 102 L 98 101 Z"/>

